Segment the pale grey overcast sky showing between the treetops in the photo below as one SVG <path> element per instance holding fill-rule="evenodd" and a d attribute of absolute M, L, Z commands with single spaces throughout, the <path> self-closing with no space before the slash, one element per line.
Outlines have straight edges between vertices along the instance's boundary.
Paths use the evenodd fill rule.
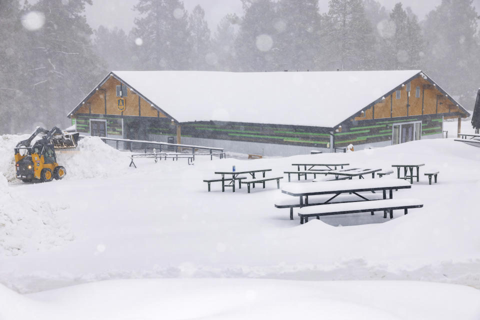
<path fill-rule="evenodd" d="M 379 0 L 390 10 L 400 0 Z M 96 29 L 100 24 L 108 27 L 119 27 L 128 32 L 133 27 L 136 12 L 132 10 L 137 0 L 93 0 L 93 5 L 87 5 L 86 18 L 90 26 Z M 432 10 L 441 0 L 401 0 L 403 6 L 410 6 L 420 19 Z M 474 0 L 477 4 L 480 0 Z M 191 12 L 192 8 L 200 4 L 205 10 L 205 17 L 212 33 L 216 30 L 218 21 L 227 13 L 242 14 L 240 0 L 183 0 L 185 9 Z M 328 10 L 328 0 L 320 0 L 320 10 Z"/>

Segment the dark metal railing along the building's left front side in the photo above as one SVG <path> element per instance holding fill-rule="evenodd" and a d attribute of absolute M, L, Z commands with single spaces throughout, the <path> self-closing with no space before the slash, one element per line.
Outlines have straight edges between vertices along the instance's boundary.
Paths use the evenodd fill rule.
<path fill-rule="evenodd" d="M 80 135 L 80 138 L 86 137 L 85 135 Z M 201 146 L 201 145 L 189 145 L 189 144 L 177 144 L 177 143 L 167 143 L 167 142 L 158 142 L 158 141 L 146 141 L 146 140 L 130 140 L 130 139 L 120 139 L 120 138 L 108 138 L 108 137 L 99 137 L 103 142 L 110 145 L 111 147 L 116 148 L 117 150 L 126 150 L 131 152 L 143 152 L 143 153 L 161 153 L 171 151 L 175 153 L 181 153 L 185 155 L 185 152 L 190 151 L 193 155 L 209 155 L 210 159 L 213 159 L 213 155 L 219 156 L 220 159 L 225 157 L 225 152 L 223 148 L 216 148 L 211 146 Z M 155 150 L 155 152 L 153 152 Z M 189 153 L 190 153 L 189 152 Z"/>

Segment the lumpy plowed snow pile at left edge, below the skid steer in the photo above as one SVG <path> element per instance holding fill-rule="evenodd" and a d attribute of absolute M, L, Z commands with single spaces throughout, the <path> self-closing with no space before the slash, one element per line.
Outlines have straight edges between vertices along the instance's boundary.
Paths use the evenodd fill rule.
<path fill-rule="evenodd" d="M 9 192 L 0 174 L 0 255 L 48 249 L 73 239 L 64 209 L 67 205 L 34 202 Z"/>

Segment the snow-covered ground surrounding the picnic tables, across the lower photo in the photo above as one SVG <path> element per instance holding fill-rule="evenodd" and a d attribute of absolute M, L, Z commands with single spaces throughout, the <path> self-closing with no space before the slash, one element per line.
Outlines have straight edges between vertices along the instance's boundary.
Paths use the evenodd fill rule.
<path fill-rule="evenodd" d="M 12 170 L 11 144 L 21 139 L 20 136 L 10 137 L 0 137 L 0 149 L 7 151 L 0 153 L 0 171 L 7 172 L 7 176 Z M 58 155 L 59 163 L 68 172 L 63 180 L 49 183 L 11 181 L 9 185 L 5 185 L 5 179 L 0 181 L 3 183 L 0 187 L 0 217 L 5 219 L 13 212 L 17 221 L 8 222 L 6 228 L 0 219 L 0 282 L 5 285 L 0 288 L 0 296 L 17 300 L 22 308 L 30 304 L 31 309 L 59 305 L 59 309 L 63 310 L 60 305 L 67 308 L 69 303 L 74 303 L 78 293 L 83 296 L 76 309 L 80 310 L 82 303 L 86 305 L 96 290 L 131 290 L 134 295 L 135 290 L 143 290 L 142 286 L 155 287 L 157 290 L 152 289 L 155 292 L 151 296 L 161 300 L 168 294 L 165 292 L 169 292 L 169 286 L 181 288 L 186 285 L 192 286 L 189 298 L 194 300 L 197 294 L 201 301 L 208 294 L 212 295 L 212 299 L 216 296 L 221 299 L 222 285 L 238 287 L 235 294 L 240 295 L 249 292 L 248 287 L 252 286 L 255 287 L 253 291 L 273 292 L 273 297 L 279 290 L 276 286 L 286 285 L 288 288 L 291 286 L 292 292 L 298 293 L 285 293 L 285 300 L 278 299 L 279 313 L 284 310 L 288 314 L 289 307 L 292 312 L 302 309 L 309 312 L 309 309 L 316 310 L 316 306 L 312 308 L 312 303 L 325 305 L 333 303 L 333 300 L 332 305 L 339 303 L 337 309 L 342 309 L 342 303 L 354 303 L 355 306 L 348 304 L 351 310 L 355 307 L 374 308 L 370 311 L 390 312 L 390 318 L 414 318 L 401 312 L 411 311 L 413 314 L 417 312 L 417 306 L 419 308 L 421 303 L 429 301 L 437 310 L 460 308 L 470 315 L 475 314 L 476 318 L 480 317 L 477 305 L 470 303 L 469 307 L 463 307 L 461 301 L 467 297 L 480 301 L 478 291 L 467 287 L 445 286 L 445 292 L 457 289 L 465 292 L 465 299 L 456 299 L 463 293 L 451 294 L 450 298 L 455 298 L 451 300 L 452 304 L 447 304 L 442 302 L 446 298 L 442 300 L 443 287 L 440 288 L 440 284 L 431 284 L 439 286 L 436 287 L 407 281 L 330 283 L 280 280 L 427 280 L 480 288 L 480 216 L 476 204 L 480 188 L 478 147 L 453 139 L 430 139 L 351 153 L 256 160 L 227 158 L 210 161 L 199 158 L 194 165 L 188 165 L 186 159 L 161 160 L 158 163 L 152 159 L 138 159 L 135 160 L 138 166 L 135 169 L 128 167 L 127 153 L 108 147 L 98 138 L 85 139 L 81 144 L 80 151 Z M 220 185 L 215 183 L 212 191 L 207 192 L 206 183 L 202 182 L 204 178 L 213 177 L 214 171 L 231 169 L 232 165 L 236 166 L 236 170 L 271 168 L 272 171 L 267 174 L 276 176 L 292 169 L 291 163 L 304 161 L 341 161 L 352 166 L 379 168 L 388 168 L 393 162 L 423 162 L 425 166 L 420 168 L 420 182 L 415 182 L 411 189 L 395 191 L 394 198 L 418 198 L 424 206 L 410 210 L 408 215 L 394 212 L 392 220 L 383 219 L 378 213 L 373 216 L 355 213 L 313 219 L 300 225 L 296 211 L 295 219 L 289 220 L 288 209 L 273 206 L 275 199 L 282 196 L 274 182 L 267 183 L 266 189 L 257 186 L 250 194 L 246 193 L 246 188 L 237 189 L 235 193 L 227 189 L 222 193 Z M 440 170 L 437 184 L 428 185 L 427 177 L 422 175 L 425 168 Z M 383 178 L 395 177 L 389 175 Z M 305 183 L 294 179 L 291 183 Z M 287 183 L 284 178 L 280 188 Z M 8 198 L 4 200 L 5 197 Z M 45 203 L 49 210 L 38 211 L 36 203 Z M 22 222 L 23 219 L 33 219 L 32 216 L 36 222 Z M 37 221 L 50 222 L 42 225 Z M 21 250 L 12 250 L 13 242 L 26 244 Z M 48 245 L 44 245 L 45 242 Z M 10 249 L 4 249 L 5 243 Z M 232 280 L 211 279 L 231 277 L 277 280 L 235 280 L 238 282 L 230 284 L 228 281 Z M 123 278 L 175 279 L 107 281 L 27 296 L 17 296 L 7 289 L 22 293 L 37 292 Z M 384 291 L 372 298 L 375 299 L 373 304 L 368 304 L 354 289 L 359 286 L 358 283 L 368 290 Z M 333 287 L 335 285 L 337 287 Z M 194 289 L 210 286 L 208 294 Z M 394 288 L 397 287 L 403 287 L 410 293 L 421 290 L 429 293 L 418 301 L 408 298 L 408 303 L 413 304 L 401 304 L 399 301 L 406 301 L 405 296 L 410 295 L 395 295 L 405 292 L 396 291 Z M 149 290 L 145 288 L 145 292 Z M 351 293 L 356 297 L 345 302 L 339 298 L 340 293 L 325 293 L 316 298 L 316 295 L 308 294 L 309 290 L 351 291 L 356 292 Z M 176 301 L 172 305 L 188 303 L 188 300 L 181 299 L 181 295 L 186 293 L 180 294 L 180 291 L 173 291 L 169 296 Z M 246 294 L 248 296 L 249 293 Z M 291 296 L 298 299 L 287 305 Z M 378 308 L 383 304 L 379 301 L 387 301 L 389 296 L 391 301 L 385 303 L 395 301 L 394 310 L 397 311 L 390 307 Z M 248 314 L 241 313 L 244 305 L 262 314 L 268 309 L 268 303 L 276 301 L 268 299 L 264 306 L 263 300 L 259 300 L 258 304 L 242 302 L 241 299 L 233 304 L 227 303 L 225 314 L 247 317 Z M 121 301 L 119 299 L 119 305 Z M 415 304 L 417 302 L 419 304 Z M 108 303 L 114 302 L 109 300 Z M 108 303 L 105 309 L 108 309 Z M 205 307 L 205 312 L 210 313 L 197 312 L 195 315 L 220 318 L 225 310 L 221 306 L 222 303 L 218 303 L 211 309 Z M 127 307 L 128 304 L 124 305 L 124 308 Z M 168 310 L 165 309 L 166 318 L 169 317 Z M 187 317 L 187 310 L 181 312 L 178 314 Z M 76 314 L 76 311 L 71 314 Z M 80 311 L 78 314 L 85 315 L 78 318 L 94 318 Z M 375 314 L 376 318 L 388 318 L 379 314 Z M 445 311 L 442 314 L 445 314 L 443 318 L 448 318 L 446 315 L 450 313 Z"/>

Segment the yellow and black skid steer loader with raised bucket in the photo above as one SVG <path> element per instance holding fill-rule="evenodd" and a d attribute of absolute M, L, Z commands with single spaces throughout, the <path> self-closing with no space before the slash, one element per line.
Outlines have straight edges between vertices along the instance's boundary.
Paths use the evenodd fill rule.
<path fill-rule="evenodd" d="M 30 145 L 37 135 L 40 137 Z M 56 162 L 55 149 L 75 148 L 78 135 L 78 132 L 62 131 L 56 126 L 50 131 L 37 127 L 28 139 L 15 146 L 16 177 L 24 182 L 63 178 L 66 170 Z"/>

